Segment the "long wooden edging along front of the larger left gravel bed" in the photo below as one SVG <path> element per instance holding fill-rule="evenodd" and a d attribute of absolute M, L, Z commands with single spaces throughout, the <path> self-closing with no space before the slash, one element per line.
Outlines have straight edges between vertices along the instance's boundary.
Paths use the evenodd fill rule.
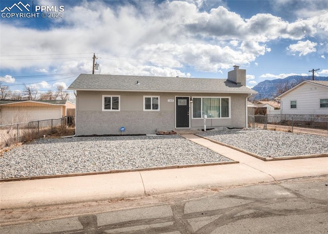
<path fill-rule="evenodd" d="M 239 163 L 239 161 L 210 162 L 210 163 L 202 163 L 202 164 L 186 164 L 186 165 L 160 166 L 160 167 L 136 168 L 136 169 L 121 169 L 121 170 L 114 169 L 114 170 L 107 171 L 107 172 L 73 173 L 73 174 L 65 174 L 65 175 L 8 178 L 8 179 L 0 179 L 0 183 L 1 182 L 10 182 L 10 181 L 53 179 L 53 178 L 75 177 L 75 176 L 93 176 L 93 175 L 116 174 L 116 173 L 127 173 L 127 172 L 158 171 L 158 170 L 164 170 L 164 169 L 179 169 L 179 168 L 199 167 L 199 166 L 216 166 L 216 165 L 226 165 L 226 164 L 235 164 L 235 163 Z"/>

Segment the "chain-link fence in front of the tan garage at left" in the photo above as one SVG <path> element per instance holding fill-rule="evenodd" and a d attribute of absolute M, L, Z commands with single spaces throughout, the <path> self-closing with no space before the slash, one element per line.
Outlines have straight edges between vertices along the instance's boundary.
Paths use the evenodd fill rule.
<path fill-rule="evenodd" d="M 68 126 L 75 126 L 75 119 L 73 116 L 65 116 L 60 119 L 46 119 L 0 125 L 0 146 L 8 146 L 14 142 L 37 139 L 44 135 L 58 132 L 58 130 Z"/>

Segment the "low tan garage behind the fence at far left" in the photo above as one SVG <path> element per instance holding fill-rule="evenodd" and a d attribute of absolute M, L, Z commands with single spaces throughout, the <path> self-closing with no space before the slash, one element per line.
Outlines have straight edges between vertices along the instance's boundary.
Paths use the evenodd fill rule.
<path fill-rule="evenodd" d="M 0 100 L 0 125 L 59 119 L 74 109 L 67 100 Z"/>

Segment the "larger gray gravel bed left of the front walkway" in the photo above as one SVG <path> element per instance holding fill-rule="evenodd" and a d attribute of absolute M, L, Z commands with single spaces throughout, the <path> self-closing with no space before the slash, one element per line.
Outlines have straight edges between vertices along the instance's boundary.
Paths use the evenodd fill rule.
<path fill-rule="evenodd" d="M 0 157 L 0 178 L 231 161 L 177 135 L 39 139 Z"/>

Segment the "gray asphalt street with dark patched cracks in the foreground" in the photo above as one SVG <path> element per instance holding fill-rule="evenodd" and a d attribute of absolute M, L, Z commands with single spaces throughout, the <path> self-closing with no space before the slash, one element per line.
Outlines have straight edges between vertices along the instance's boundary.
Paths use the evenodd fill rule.
<path fill-rule="evenodd" d="M 0 211 L 0 233 L 328 233 L 328 176 Z"/>

